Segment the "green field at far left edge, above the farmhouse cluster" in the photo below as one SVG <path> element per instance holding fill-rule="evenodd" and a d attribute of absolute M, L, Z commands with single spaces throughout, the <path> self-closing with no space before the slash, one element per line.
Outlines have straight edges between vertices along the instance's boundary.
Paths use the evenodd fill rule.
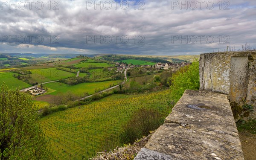
<path fill-rule="evenodd" d="M 5 83 L 9 87 L 9 89 L 26 88 L 26 87 L 31 86 L 31 85 L 13 77 L 14 74 L 17 74 L 17 73 L 0 72 L 0 85 Z"/>

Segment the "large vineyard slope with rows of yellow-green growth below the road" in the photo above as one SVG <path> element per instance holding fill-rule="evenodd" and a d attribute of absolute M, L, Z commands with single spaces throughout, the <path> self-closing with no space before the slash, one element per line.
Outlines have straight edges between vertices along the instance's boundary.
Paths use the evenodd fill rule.
<path fill-rule="evenodd" d="M 122 146 L 120 128 L 132 113 L 140 108 L 166 110 L 169 99 L 169 90 L 133 96 L 117 94 L 52 113 L 39 122 L 57 159 L 89 159 L 95 152 Z"/>

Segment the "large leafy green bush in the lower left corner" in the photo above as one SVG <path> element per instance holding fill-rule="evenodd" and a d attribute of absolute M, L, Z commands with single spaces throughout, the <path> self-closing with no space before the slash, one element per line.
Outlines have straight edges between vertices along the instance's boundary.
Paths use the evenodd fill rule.
<path fill-rule="evenodd" d="M 29 95 L 0 89 L 0 157 L 2 160 L 49 160 L 48 141 L 36 121 L 38 111 Z"/>

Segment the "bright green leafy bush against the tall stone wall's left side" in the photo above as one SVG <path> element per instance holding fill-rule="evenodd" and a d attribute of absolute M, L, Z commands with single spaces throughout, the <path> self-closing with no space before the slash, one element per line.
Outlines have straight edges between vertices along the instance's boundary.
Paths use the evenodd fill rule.
<path fill-rule="evenodd" d="M 199 90 L 199 62 L 197 59 L 191 65 L 180 68 L 172 74 L 170 86 L 172 101 L 176 103 L 185 90 Z"/>

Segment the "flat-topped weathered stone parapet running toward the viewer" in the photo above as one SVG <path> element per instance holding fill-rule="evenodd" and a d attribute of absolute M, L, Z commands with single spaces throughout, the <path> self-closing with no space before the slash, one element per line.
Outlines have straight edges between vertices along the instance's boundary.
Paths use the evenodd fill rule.
<path fill-rule="evenodd" d="M 244 160 L 227 95 L 186 90 L 135 160 Z"/>

